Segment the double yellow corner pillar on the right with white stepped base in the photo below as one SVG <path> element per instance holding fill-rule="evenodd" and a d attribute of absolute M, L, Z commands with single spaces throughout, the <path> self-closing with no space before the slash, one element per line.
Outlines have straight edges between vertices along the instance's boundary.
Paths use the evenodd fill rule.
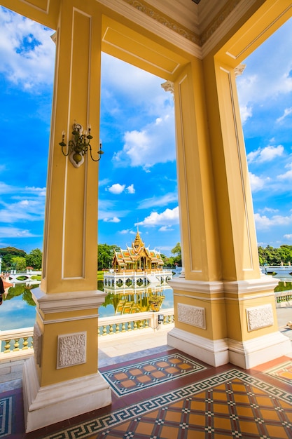
<path fill-rule="evenodd" d="M 174 83 L 185 278 L 170 282 L 175 327 L 168 344 L 214 366 L 250 368 L 291 353 L 277 325 L 277 281 L 260 274 L 234 72 L 243 45 L 274 22 L 267 3 Z"/>

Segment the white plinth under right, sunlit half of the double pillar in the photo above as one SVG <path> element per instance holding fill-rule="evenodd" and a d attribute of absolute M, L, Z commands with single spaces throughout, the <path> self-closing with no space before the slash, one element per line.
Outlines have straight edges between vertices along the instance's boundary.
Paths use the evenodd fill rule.
<path fill-rule="evenodd" d="M 242 369 L 251 369 L 292 353 L 290 339 L 281 332 L 272 332 L 245 342 L 229 339 L 228 345 L 229 362 Z"/>

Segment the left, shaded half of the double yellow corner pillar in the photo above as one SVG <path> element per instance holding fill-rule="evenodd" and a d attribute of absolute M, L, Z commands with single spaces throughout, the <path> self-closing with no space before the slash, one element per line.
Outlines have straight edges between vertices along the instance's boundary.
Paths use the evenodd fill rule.
<path fill-rule="evenodd" d="M 202 61 L 174 82 L 181 241 L 185 278 L 174 289 L 168 343 L 211 365 L 228 363 L 216 196 Z"/>

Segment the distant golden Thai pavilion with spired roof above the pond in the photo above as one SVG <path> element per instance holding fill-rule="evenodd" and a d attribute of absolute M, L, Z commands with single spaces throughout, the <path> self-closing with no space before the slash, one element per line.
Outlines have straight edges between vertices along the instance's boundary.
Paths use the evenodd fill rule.
<path fill-rule="evenodd" d="M 120 249 L 113 256 L 113 269 L 118 272 L 121 270 L 157 270 L 162 269 L 162 266 L 160 252 L 146 248 L 139 231 L 132 242 L 132 247 L 127 246 L 127 250 Z"/>

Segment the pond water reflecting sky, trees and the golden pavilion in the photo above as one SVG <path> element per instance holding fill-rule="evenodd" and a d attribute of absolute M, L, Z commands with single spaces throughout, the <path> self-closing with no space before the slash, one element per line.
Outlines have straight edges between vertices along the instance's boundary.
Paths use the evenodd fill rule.
<path fill-rule="evenodd" d="M 36 319 L 36 306 L 32 298 L 32 290 L 39 285 L 26 286 L 18 283 L 8 289 L 7 295 L 3 295 L 0 306 L 0 330 L 13 330 L 22 327 L 32 327 Z M 99 290 L 104 290 L 103 283 L 99 282 Z M 283 280 L 275 288 L 275 291 L 292 290 L 292 282 Z M 125 313 L 149 311 L 151 299 L 156 297 L 159 309 L 168 309 L 174 306 L 173 292 L 169 285 L 158 288 L 144 288 L 134 292 L 117 293 L 112 289 L 106 290 L 104 304 L 99 307 L 99 316 L 118 316 Z"/>

